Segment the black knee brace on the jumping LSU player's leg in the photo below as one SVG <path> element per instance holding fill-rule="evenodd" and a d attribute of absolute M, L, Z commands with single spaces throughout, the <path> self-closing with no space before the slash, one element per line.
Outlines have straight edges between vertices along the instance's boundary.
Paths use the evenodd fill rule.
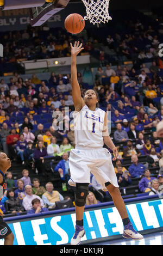
<path fill-rule="evenodd" d="M 76 198 L 75 198 L 75 204 L 77 206 L 84 206 L 86 203 L 86 197 L 88 193 L 88 186 L 89 183 L 77 183 L 76 187 Z"/>

